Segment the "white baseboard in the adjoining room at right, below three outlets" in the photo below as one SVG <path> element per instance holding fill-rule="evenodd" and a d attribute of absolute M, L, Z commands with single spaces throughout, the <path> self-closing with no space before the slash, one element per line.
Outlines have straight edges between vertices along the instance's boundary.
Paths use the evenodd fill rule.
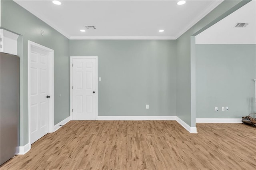
<path fill-rule="evenodd" d="M 238 119 L 196 118 L 196 123 L 242 123 L 242 118 L 238 118 Z"/>

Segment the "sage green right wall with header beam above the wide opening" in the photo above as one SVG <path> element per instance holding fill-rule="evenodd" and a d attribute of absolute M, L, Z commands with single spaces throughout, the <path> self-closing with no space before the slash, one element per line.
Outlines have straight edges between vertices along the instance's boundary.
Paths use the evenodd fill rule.
<path fill-rule="evenodd" d="M 194 36 L 206 30 L 248 2 L 250 2 L 250 0 L 225 0 L 176 40 L 177 116 L 190 127 L 196 127 L 196 104 L 194 102 L 196 100 L 196 50 L 194 50 Z M 191 46 L 193 49 L 191 49 Z"/>

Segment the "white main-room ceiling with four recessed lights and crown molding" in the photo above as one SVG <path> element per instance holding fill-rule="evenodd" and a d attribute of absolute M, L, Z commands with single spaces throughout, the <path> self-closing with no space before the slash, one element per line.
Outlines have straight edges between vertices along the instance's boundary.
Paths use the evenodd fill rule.
<path fill-rule="evenodd" d="M 14 0 L 69 39 L 175 40 L 223 0 Z M 86 30 L 94 25 L 96 30 Z M 164 30 L 164 32 L 158 32 Z"/>

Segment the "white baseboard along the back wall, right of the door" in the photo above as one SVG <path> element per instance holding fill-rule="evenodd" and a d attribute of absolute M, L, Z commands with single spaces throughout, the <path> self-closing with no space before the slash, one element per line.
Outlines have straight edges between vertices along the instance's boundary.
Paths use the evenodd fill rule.
<path fill-rule="evenodd" d="M 176 121 L 176 116 L 98 116 L 98 121 Z"/>

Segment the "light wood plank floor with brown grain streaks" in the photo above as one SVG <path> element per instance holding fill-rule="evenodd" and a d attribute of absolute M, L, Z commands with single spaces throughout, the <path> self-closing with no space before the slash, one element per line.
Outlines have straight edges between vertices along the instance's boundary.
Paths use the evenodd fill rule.
<path fill-rule="evenodd" d="M 256 169 L 255 127 L 196 127 L 190 134 L 176 121 L 70 121 L 1 170 Z"/>

